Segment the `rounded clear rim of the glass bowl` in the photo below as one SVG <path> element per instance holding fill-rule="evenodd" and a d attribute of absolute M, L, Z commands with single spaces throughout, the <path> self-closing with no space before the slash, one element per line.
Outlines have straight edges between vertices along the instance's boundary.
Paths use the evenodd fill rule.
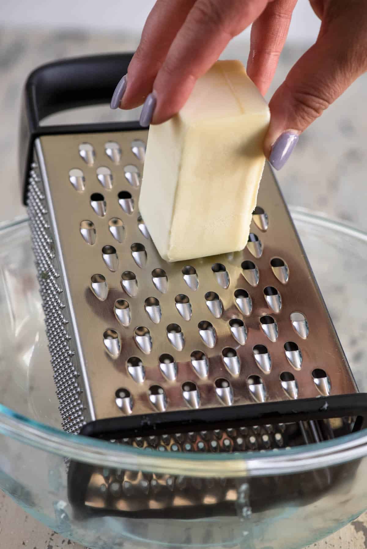
<path fill-rule="evenodd" d="M 303 208 L 290 208 L 294 221 L 344 233 L 367 244 L 367 233 L 350 225 L 314 214 Z M 0 223 L 0 231 L 27 223 L 26 217 Z M 108 468 L 153 471 L 191 477 L 260 477 L 296 474 L 321 467 L 336 466 L 367 456 L 367 434 L 364 430 L 336 440 L 306 447 L 265 451 L 207 454 L 158 454 L 131 446 L 75 436 L 60 429 L 33 421 L 0 404 L 0 433 L 23 444 L 54 455 Z M 1 453 L 1 452 L 0 452 Z"/>

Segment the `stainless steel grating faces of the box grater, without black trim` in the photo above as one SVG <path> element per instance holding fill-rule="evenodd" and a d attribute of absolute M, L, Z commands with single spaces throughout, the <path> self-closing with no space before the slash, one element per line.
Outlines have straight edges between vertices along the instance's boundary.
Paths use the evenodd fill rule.
<path fill-rule="evenodd" d="M 64 426 L 354 393 L 269 167 L 245 250 L 168 264 L 137 209 L 146 136 L 36 142 L 29 210 Z"/>

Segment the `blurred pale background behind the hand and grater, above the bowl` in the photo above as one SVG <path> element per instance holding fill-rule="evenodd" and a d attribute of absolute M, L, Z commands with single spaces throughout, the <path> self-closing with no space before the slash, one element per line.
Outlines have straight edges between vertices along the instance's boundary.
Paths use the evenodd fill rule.
<path fill-rule="evenodd" d="M 6 199 L 0 219 L 22 213 L 17 180 L 16 142 L 20 94 L 27 74 L 53 59 L 98 52 L 134 50 L 153 0 L 2 0 L 0 3 L 0 105 L 2 132 L 0 159 Z M 287 45 L 281 55 L 271 93 L 279 86 L 294 61 L 310 47 L 319 20 L 308 0 L 299 0 Z M 249 31 L 237 37 L 223 57 L 246 63 Z M 82 77 L 82 75 L 81 75 Z M 365 135 L 367 115 L 366 76 L 332 105 L 307 130 L 279 180 L 288 203 L 324 211 L 367 229 Z M 268 97 L 268 98 L 269 98 Z M 129 113 L 136 117 L 138 113 Z M 108 107 L 85 109 L 78 121 L 110 120 L 126 116 Z M 63 119 L 68 116 L 63 115 Z M 61 119 L 59 118 L 58 121 Z M 75 113 L 69 120 L 76 120 Z M 5 186 L 6 187 L 6 186 Z"/>

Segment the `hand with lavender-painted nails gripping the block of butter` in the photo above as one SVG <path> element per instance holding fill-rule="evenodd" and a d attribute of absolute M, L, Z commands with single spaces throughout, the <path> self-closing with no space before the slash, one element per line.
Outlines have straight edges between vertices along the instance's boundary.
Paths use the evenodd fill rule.
<path fill-rule="evenodd" d="M 144 102 L 141 125 L 175 115 L 227 43 L 252 24 L 247 72 L 262 94 L 273 79 L 297 0 L 157 0 L 111 107 Z M 271 98 L 264 153 L 280 169 L 298 136 L 367 70 L 366 0 L 310 0 L 315 44 Z"/>

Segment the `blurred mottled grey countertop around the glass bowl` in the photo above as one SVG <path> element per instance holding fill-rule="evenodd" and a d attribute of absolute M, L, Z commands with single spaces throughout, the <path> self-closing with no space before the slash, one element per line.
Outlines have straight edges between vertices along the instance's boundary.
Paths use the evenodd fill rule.
<path fill-rule="evenodd" d="M 54 59 L 92 53 L 132 51 L 137 36 L 96 35 L 87 31 L 45 31 L 0 28 L 0 220 L 25 215 L 20 204 L 16 162 L 21 89 L 27 74 Z M 292 64 L 308 45 L 287 46 L 283 51 L 270 94 L 284 79 Z M 226 58 L 246 63 L 248 46 L 237 40 L 225 52 Z M 121 75 L 122 76 L 122 75 Z M 324 212 L 367 231 L 367 75 L 360 77 L 337 102 L 299 139 L 279 182 L 288 204 Z M 77 121 L 119 119 L 121 111 L 105 107 L 87 108 Z M 136 113 L 129 113 L 130 119 Z M 75 121 L 75 114 L 63 114 L 58 121 Z M 364 360 L 364 350 L 360 360 Z M 65 540 L 27 515 L 0 492 L 0 547 L 7 549 L 83 549 Z M 367 513 L 310 547 L 316 549 L 366 549 Z M 310 548 L 309 548 L 310 549 Z"/>

